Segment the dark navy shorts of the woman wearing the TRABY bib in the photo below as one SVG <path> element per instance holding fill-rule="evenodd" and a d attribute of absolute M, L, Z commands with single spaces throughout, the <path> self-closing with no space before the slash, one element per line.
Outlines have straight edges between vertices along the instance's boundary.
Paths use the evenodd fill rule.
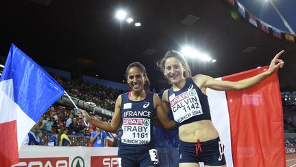
<path fill-rule="evenodd" d="M 119 167 L 158 167 L 155 146 L 119 146 Z"/>

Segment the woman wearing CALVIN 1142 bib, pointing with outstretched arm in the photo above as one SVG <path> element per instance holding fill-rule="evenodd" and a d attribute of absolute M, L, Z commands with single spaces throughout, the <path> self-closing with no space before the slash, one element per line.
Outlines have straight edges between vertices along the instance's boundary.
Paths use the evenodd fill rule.
<path fill-rule="evenodd" d="M 179 126 L 180 167 L 199 167 L 198 162 L 204 162 L 205 166 L 226 166 L 224 146 L 211 121 L 206 89 L 242 90 L 256 85 L 284 66 L 284 62 L 278 59 L 283 52 L 271 60 L 267 71 L 238 82 L 215 80 L 201 74 L 191 77 L 184 56 L 174 50 L 167 52 L 158 61 L 158 67 L 172 85 L 164 91 L 162 104 L 167 113 L 171 108 Z"/>

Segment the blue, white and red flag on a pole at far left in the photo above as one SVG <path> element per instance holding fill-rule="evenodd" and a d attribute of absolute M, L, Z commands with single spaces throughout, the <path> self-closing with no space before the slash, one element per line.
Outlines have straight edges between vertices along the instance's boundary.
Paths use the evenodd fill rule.
<path fill-rule="evenodd" d="M 64 93 L 58 82 L 15 45 L 0 78 L 0 162 L 18 163 L 25 135 Z"/>

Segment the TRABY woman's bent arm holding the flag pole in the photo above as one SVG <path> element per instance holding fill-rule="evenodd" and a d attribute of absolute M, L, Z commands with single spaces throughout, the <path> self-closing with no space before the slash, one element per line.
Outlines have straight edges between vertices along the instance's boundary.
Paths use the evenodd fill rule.
<path fill-rule="evenodd" d="M 90 124 L 93 124 L 99 127 L 99 129 L 102 129 L 103 131 L 115 133 L 119 128 L 119 124 L 121 122 L 120 106 L 121 106 L 121 96 L 119 96 L 115 102 L 114 115 L 110 123 L 103 122 L 100 120 L 95 120 L 94 118 L 90 117 L 90 115 L 88 115 L 88 113 L 84 110 L 79 110 L 78 113 L 80 115 L 83 113 L 84 120 L 86 120 L 86 122 L 90 122 Z"/>

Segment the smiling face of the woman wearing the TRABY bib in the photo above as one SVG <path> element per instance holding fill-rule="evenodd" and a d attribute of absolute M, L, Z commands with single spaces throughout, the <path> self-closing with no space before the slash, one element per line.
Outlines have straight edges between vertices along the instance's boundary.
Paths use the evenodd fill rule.
<path fill-rule="evenodd" d="M 132 91 L 143 91 L 145 83 L 145 77 L 143 72 L 138 67 L 132 67 L 127 74 L 127 84 Z"/>

